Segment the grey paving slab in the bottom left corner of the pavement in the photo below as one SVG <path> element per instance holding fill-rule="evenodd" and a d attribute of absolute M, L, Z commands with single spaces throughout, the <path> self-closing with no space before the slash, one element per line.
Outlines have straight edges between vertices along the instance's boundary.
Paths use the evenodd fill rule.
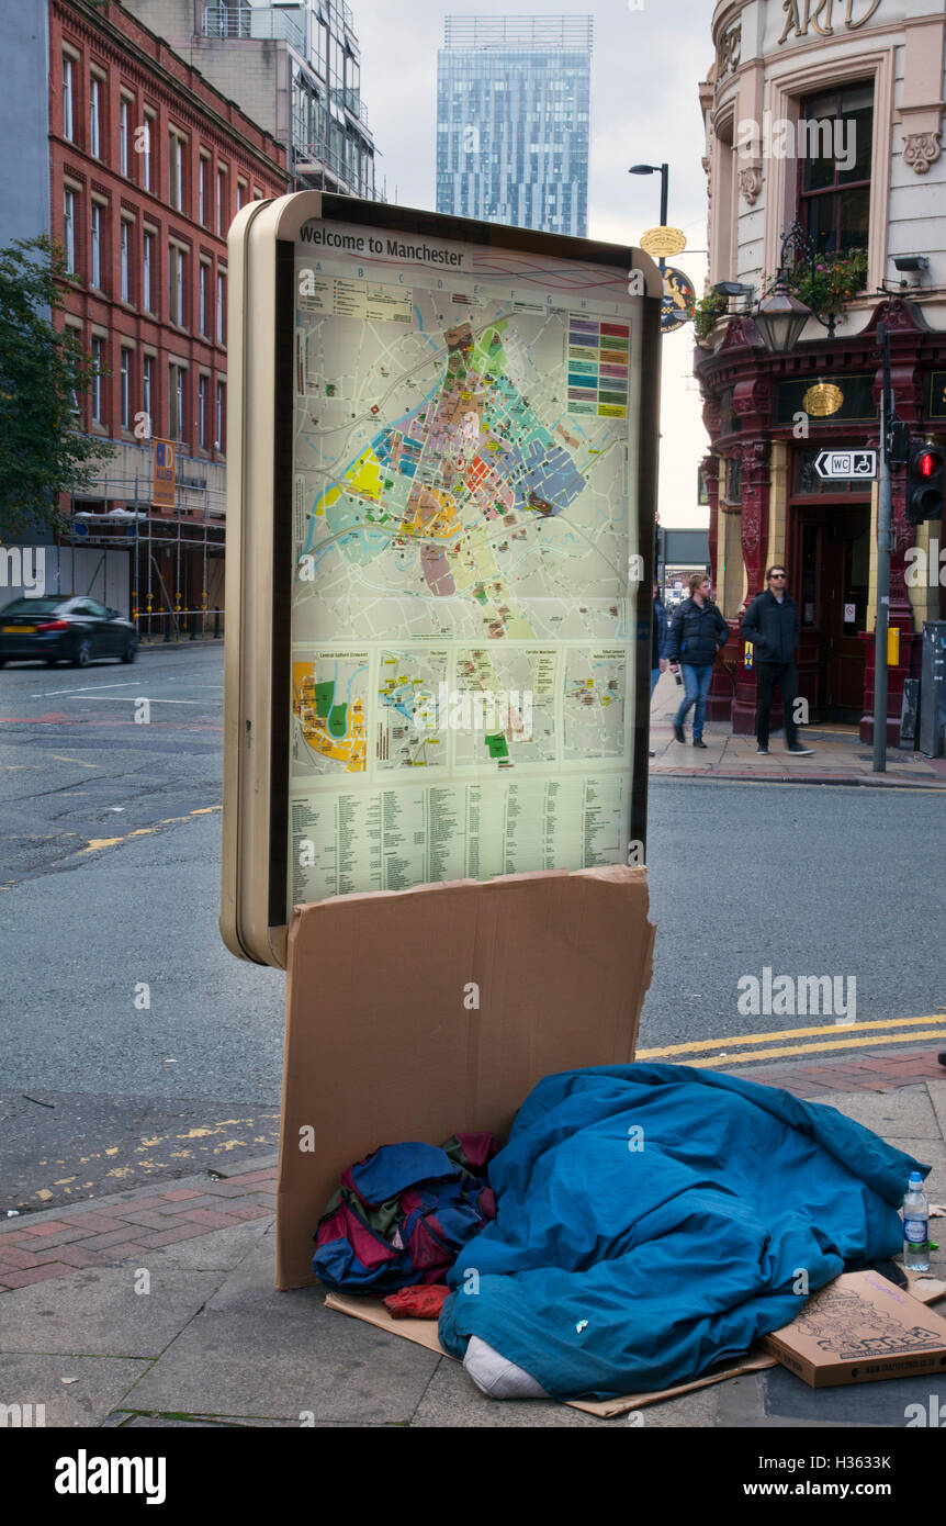
<path fill-rule="evenodd" d="M 46 1407 L 46 1427 L 101 1425 L 127 1389 L 148 1370 L 146 1361 L 113 1357 L 0 1354 L 0 1404 Z M 75 1378 L 75 1383 L 63 1383 Z M 9 1424 L 9 1422 L 8 1422 Z M 8 1457 L 8 1468 L 15 1459 Z"/>

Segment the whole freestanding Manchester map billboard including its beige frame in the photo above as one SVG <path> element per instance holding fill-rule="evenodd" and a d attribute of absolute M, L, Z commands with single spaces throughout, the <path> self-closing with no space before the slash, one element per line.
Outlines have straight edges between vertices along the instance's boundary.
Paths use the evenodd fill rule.
<path fill-rule="evenodd" d="M 299 192 L 244 209 L 230 273 L 227 946 L 639 862 L 653 262 Z"/>

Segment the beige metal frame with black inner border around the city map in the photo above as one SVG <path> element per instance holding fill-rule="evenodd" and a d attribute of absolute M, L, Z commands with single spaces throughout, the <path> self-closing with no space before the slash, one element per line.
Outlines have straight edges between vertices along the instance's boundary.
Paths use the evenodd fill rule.
<path fill-rule="evenodd" d="M 313 218 L 383 223 L 392 230 L 494 244 L 565 259 L 584 259 L 639 272 L 644 285 L 642 391 L 638 452 L 639 546 L 645 583 L 638 600 L 638 693 L 650 664 L 650 594 L 659 406 L 659 310 L 662 282 L 656 264 L 639 249 L 500 227 L 423 211 L 356 201 L 351 197 L 299 191 L 273 201 L 253 201 L 236 214 L 229 233 L 229 368 L 227 368 L 227 543 L 224 642 L 223 887 L 220 928 L 232 954 L 285 967 L 285 844 L 276 841 L 275 806 L 288 790 L 288 772 L 273 757 L 273 739 L 288 723 L 285 694 L 275 668 L 288 661 L 290 610 L 279 607 L 278 526 L 287 505 L 276 505 L 278 334 L 281 261 L 294 250 L 299 230 Z M 252 404 L 252 420 L 247 407 Z M 281 520 L 282 516 L 282 520 Z M 288 565 L 288 563 L 287 563 Z M 284 652 L 285 649 L 285 652 Z M 287 690 L 288 693 L 288 690 Z M 282 777 L 285 772 L 285 777 Z M 647 734 L 635 734 L 635 810 L 641 836 L 647 790 Z"/>

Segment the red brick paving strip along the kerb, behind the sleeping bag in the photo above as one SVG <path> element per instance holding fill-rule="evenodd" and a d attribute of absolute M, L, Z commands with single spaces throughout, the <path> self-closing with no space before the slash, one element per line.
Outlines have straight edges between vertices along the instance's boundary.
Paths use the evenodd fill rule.
<path fill-rule="evenodd" d="M 783 1087 L 796 1097 L 818 1099 L 838 1091 L 891 1091 L 928 1080 L 946 1080 L 935 1047 L 908 1053 L 850 1054 L 816 1062 L 760 1061 L 726 1071 L 706 1061 L 706 1068 L 748 1076 L 769 1087 Z M 276 1163 L 198 1186 L 171 1187 L 156 1193 L 137 1189 L 113 1198 L 29 1213 L 0 1225 L 0 1293 L 26 1288 L 50 1277 L 66 1277 L 76 1268 L 108 1267 L 143 1257 L 160 1245 L 198 1239 L 252 1219 L 272 1218 L 276 1207 Z"/>

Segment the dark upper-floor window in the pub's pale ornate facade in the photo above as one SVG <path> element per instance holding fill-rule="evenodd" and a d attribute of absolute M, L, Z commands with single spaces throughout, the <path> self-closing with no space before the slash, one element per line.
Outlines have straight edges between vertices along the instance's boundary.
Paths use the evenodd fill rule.
<path fill-rule="evenodd" d="M 873 131 L 870 82 L 801 101 L 798 218 L 818 253 L 867 249 Z"/>

